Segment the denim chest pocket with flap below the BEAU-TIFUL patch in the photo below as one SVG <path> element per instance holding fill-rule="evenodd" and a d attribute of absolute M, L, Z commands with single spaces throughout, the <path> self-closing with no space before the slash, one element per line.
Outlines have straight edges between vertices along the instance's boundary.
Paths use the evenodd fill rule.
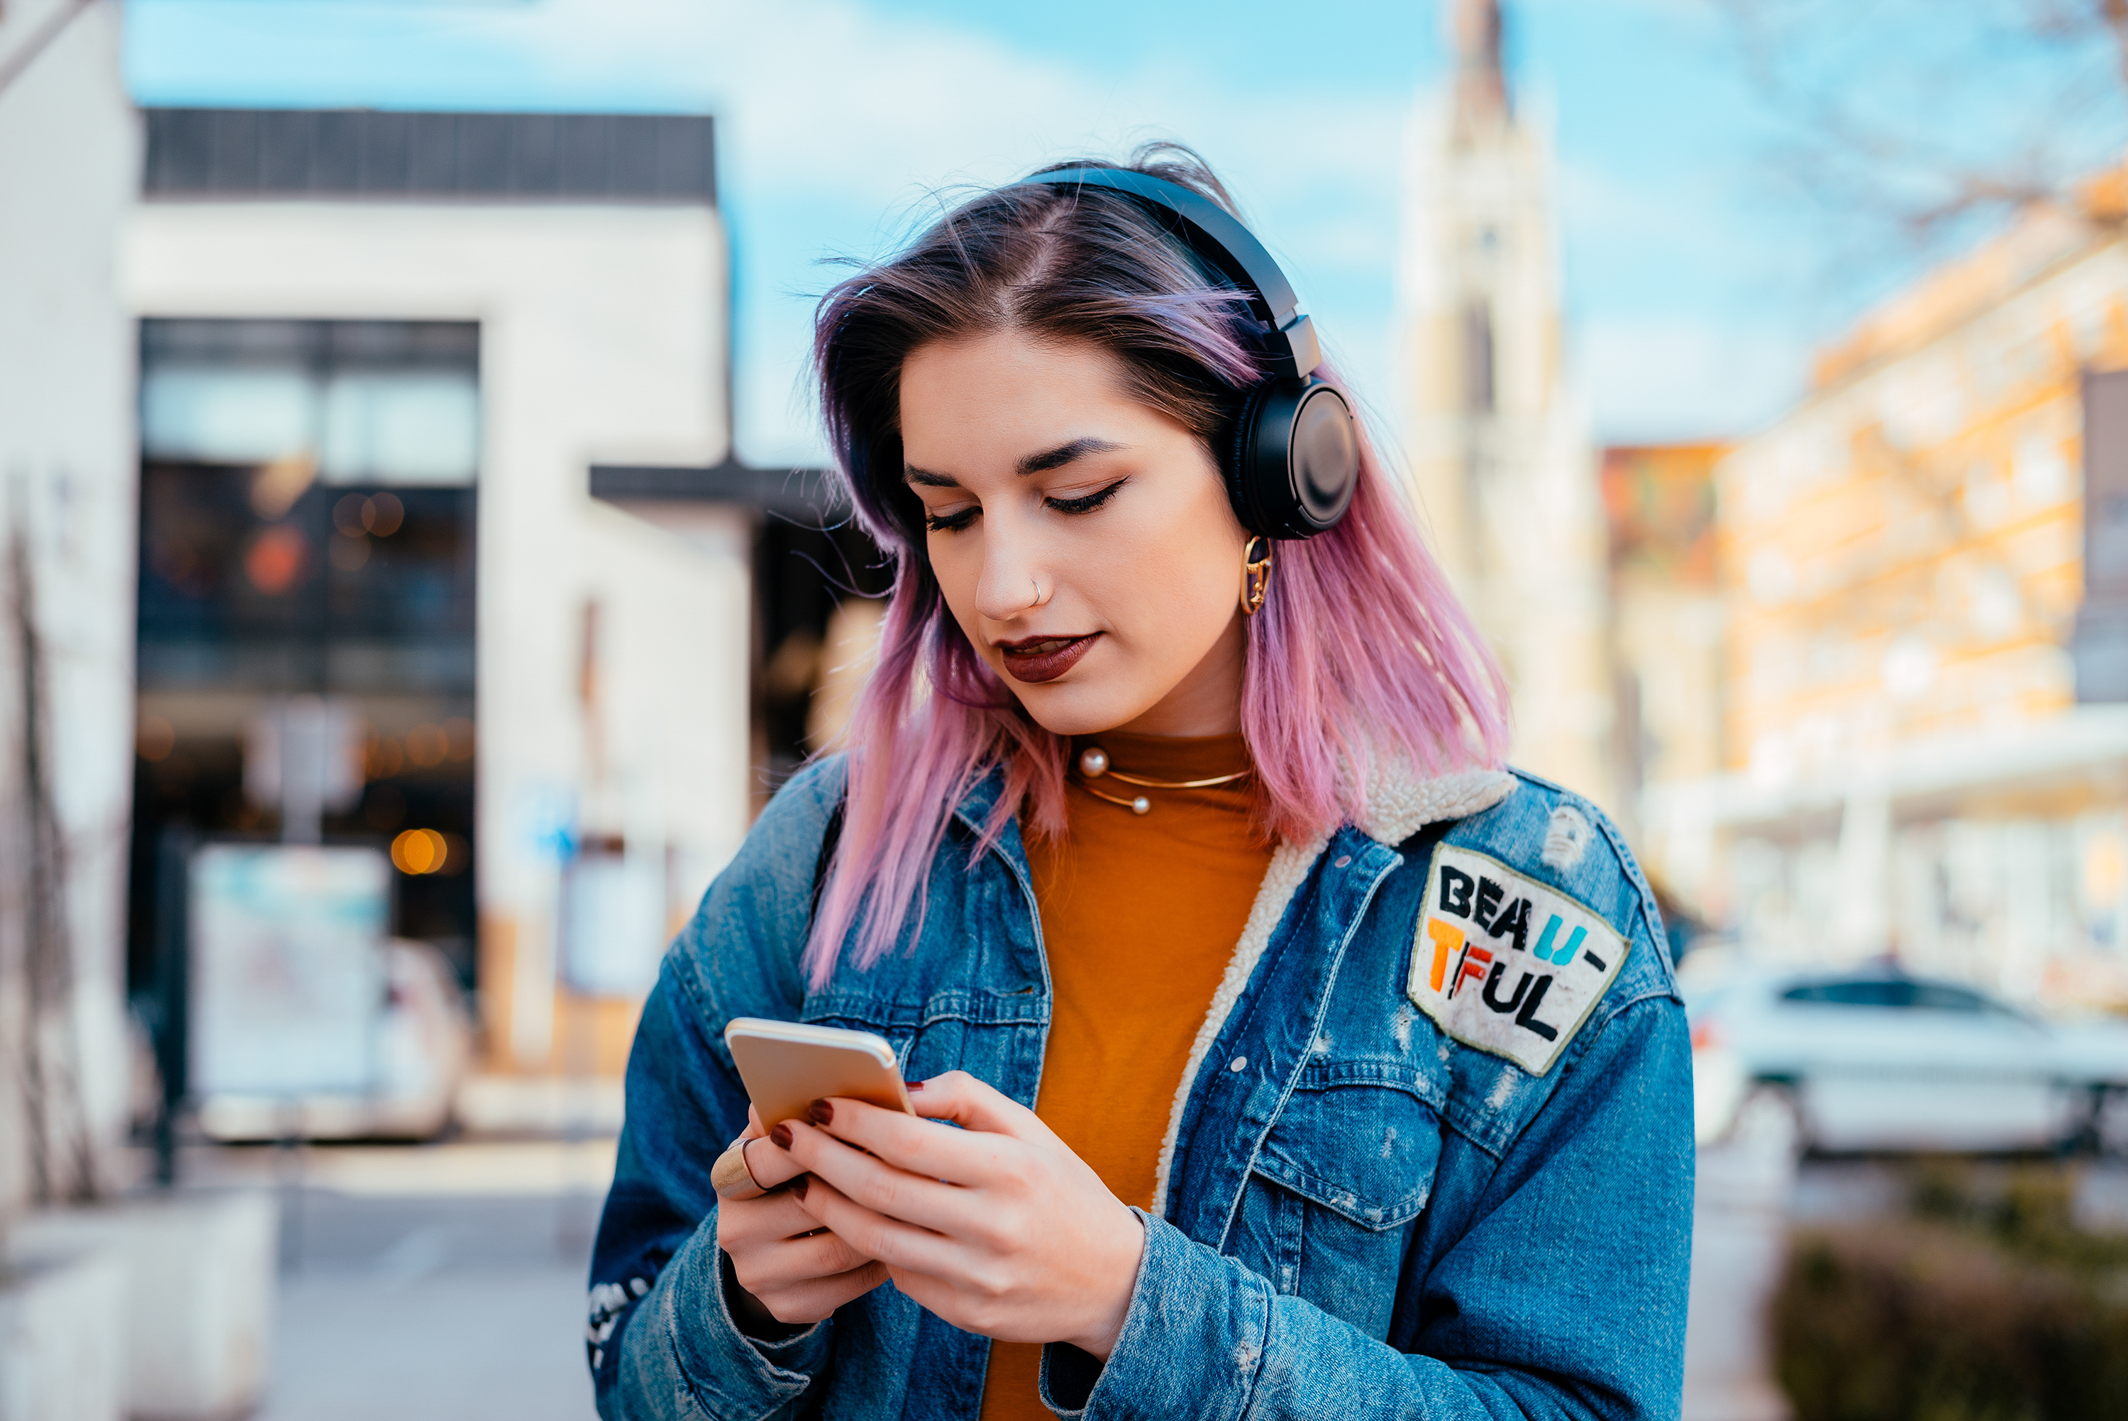
<path fill-rule="evenodd" d="M 1441 1115 L 1407 1064 L 1309 1064 L 1256 1155 L 1232 1251 L 1281 1293 L 1387 1336 L 1439 1161 Z"/>

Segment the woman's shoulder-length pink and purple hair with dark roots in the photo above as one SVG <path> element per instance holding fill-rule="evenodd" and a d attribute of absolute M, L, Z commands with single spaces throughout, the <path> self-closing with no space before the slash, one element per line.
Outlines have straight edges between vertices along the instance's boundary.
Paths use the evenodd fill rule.
<path fill-rule="evenodd" d="M 1187 149 L 1149 145 L 1128 166 L 1232 208 Z M 1094 345 L 1121 364 L 1132 396 L 1217 449 L 1238 396 L 1258 381 L 1251 328 L 1247 304 L 1187 247 L 1132 200 L 1094 187 L 987 191 L 821 298 L 813 360 L 828 438 L 855 519 L 896 574 L 879 668 L 847 734 L 843 836 L 804 951 L 815 985 L 832 976 L 853 923 L 860 968 L 911 919 L 921 923 L 932 857 L 981 776 L 1002 770 L 1004 785 L 975 857 L 1015 817 L 1030 834 L 1066 832 L 1068 740 L 1021 710 L 932 574 L 924 508 L 902 483 L 902 362 L 928 342 L 998 330 Z M 1319 374 L 1336 379 L 1328 366 Z M 1266 838 L 1364 819 L 1379 755 L 1428 772 L 1504 755 L 1500 670 L 1364 425 L 1351 511 L 1317 538 L 1277 545 L 1247 657 L 1241 730 Z"/>

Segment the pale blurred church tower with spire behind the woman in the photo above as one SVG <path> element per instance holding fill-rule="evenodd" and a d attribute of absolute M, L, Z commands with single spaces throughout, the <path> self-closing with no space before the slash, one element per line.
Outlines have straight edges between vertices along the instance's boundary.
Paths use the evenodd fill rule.
<path fill-rule="evenodd" d="M 1413 113 L 1398 268 L 1413 487 L 1507 668 L 1517 764 L 1617 806 L 1605 508 L 1562 362 L 1549 132 L 1509 91 L 1498 2 L 1445 11 L 1456 79 Z"/>

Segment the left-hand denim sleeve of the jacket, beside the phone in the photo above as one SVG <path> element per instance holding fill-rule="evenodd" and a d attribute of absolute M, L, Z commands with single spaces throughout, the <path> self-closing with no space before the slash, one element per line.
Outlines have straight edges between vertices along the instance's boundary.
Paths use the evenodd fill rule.
<path fill-rule="evenodd" d="M 804 1002 L 798 953 L 838 793 L 838 762 L 785 785 L 672 942 L 643 1006 L 592 1247 L 587 1353 L 606 1421 L 789 1415 L 830 1361 L 832 1319 L 772 1344 L 738 1332 L 709 1170 L 747 1127 L 724 1023 L 794 1019 Z"/>

